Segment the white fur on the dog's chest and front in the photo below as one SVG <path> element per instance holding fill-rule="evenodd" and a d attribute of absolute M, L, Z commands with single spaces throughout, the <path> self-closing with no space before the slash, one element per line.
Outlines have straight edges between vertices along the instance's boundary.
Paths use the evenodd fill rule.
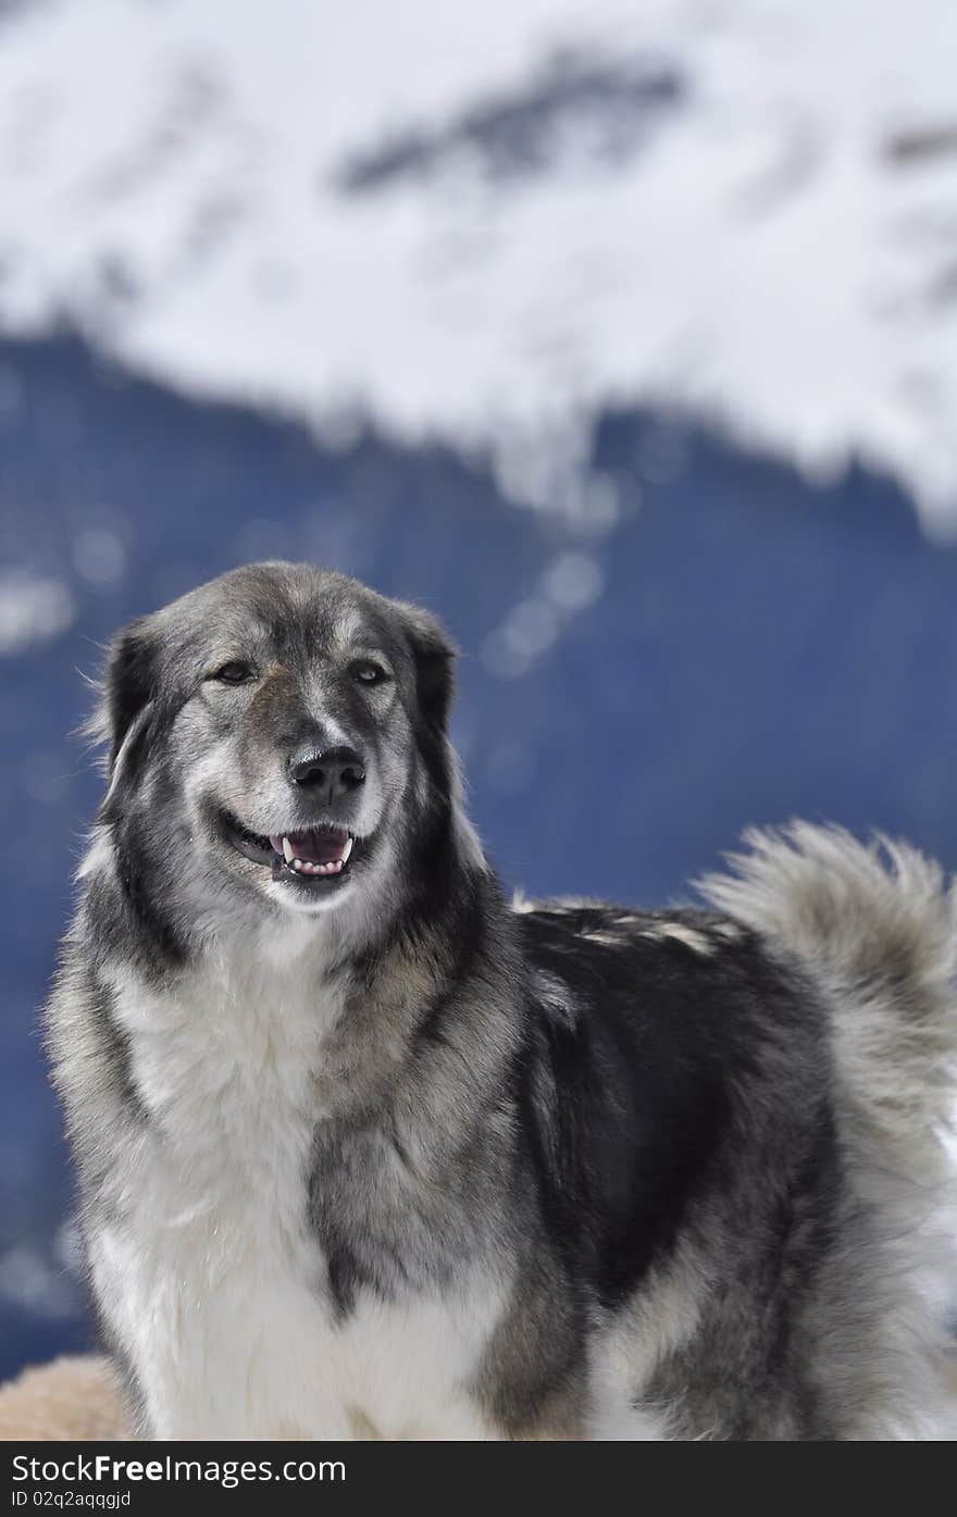
<path fill-rule="evenodd" d="M 337 1323 L 308 1227 L 323 1030 L 340 1013 L 305 963 L 197 977 L 188 995 L 117 981 L 149 1123 L 115 1156 L 93 1226 L 97 1296 L 159 1438 L 482 1438 L 466 1385 L 499 1312 L 458 1297 L 359 1296 Z"/>

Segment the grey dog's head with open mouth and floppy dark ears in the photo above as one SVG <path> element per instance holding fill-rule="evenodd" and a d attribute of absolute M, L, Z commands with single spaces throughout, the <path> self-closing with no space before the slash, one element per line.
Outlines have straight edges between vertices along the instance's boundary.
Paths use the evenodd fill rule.
<path fill-rule="evenodd" d="M 452 664 L 432 616 L 344 575 L 232 570 L 112 643 L 102 819 L 179 897 L 381 895 L 449 825 Z"/>

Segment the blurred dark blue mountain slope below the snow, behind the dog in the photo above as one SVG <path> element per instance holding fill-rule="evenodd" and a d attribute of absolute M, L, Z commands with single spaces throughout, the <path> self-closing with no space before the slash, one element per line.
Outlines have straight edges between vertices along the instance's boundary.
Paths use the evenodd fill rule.
<path fill-rule="evenodd" d="M 582 539 L 441 451 L 323 451 L 103 369 L 67 337 L 0 347 L 0 572 L 62 578 L 77 604 L 67 633 L 0 666 L 0 1374 L 86 1335 L 33 1029 L 99 789 L 68 736 L 89 699 L 77 671 L 124 619 L 276 555 L 428 604 L 466 652 L 472 812 L 532 892 L 661 901 L 743 825 L 793 813 L 957 863 L 957 554 L 921 537 L 886 481 L 855 470 L 814 490 L 660 417 L 608 416 L 595 463 L 620 513 Z M 109 573 L 91 575 L 91 534 L 112 545 Z M 557 563 L 604 593 L 502 678 L 496 630 L 541 611 Z"/>

